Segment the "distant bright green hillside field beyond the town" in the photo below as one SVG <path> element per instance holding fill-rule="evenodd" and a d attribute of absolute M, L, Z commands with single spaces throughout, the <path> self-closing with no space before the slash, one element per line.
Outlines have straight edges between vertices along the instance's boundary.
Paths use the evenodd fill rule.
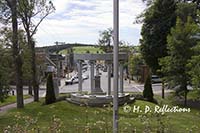
<path fill-rule="evenodd" d="M 80 46 L 80 47 L 73 47 L 73 52 L 75 54 L 85 54 L 89 51 L 89 53 L 96 54 L 97 52 L 102 53 L 103 51 L 99 47 L 93 46 Z M 60 54 L 67 54 L 67 50 L 61 50 Z"/>

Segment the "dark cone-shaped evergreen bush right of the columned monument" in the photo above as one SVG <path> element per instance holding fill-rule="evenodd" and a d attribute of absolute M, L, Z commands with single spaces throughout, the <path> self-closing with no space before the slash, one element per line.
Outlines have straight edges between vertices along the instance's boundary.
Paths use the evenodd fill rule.
<path fill-rule="evenodd" d="M 150 74 L 147 76 L 147 79 L 146 79 L 145 84 L 144 84 L 143 96 L 148 101 L 153 101 L 153 90 L 152 90 Z"/>

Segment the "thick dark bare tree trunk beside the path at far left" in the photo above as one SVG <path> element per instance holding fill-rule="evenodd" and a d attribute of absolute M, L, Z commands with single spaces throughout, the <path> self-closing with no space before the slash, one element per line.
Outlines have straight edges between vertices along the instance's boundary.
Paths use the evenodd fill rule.
<path fill-rule="evenodd" d="M 17 22 L 17 1 L 13 0 L 11 5 L 12 12 L 12 43 L 13 43 L 13 58 L 16 71 L 16 92 L 17 92 L 17 108 L 24 107 L 23 99 L 23 82 L 22 82 L 22 58 L 20 55 L 20 47 L 18 44 L 18 22 Z"/>

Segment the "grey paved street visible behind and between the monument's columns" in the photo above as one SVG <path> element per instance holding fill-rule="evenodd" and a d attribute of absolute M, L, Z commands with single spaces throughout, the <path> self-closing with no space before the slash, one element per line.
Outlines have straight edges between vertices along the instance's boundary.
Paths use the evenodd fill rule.
<path fill-rule="evenodd" d="M 104 92 L 107 92 L 107 72 L 100 71 L 101 73 L 101 89 Z M 89 78 L 86 80 L 83 80 L 82 88 L 83 91 L 90 92 L 90 70 L 88 69 L 86 72 L 84 72 L 85 75 L 89 75 Z M 78 91 L 78 83 L 74 83 L 72 85 L 65 85 L 66 78 L 61 79 L 61 86 L 59 86 L 59 93 L 69 93 L 69 92 L 77 92 Z M 39 90 L 39 96 L 45 97 L 46 94 L 46 86 L 40 86 Z M 162 84 L 152 84 L 153 92 L 154 94 L 161 94 L 162 93 Z M 124 92 L 143 92 L 144 90 L 144 84 L 139 84 L 134 81 L 131 81 L 129 83 L 129 80 L 124 80 Z M 111 91 L 113 91 L 113 78 L 111 78 Z M 171 90 L 166 89 L 165 92 L 169 92 Z M 16 90 L 14 89 L 14 93 L 16 94 Z M 24 87 L 24 95 L 28 94 L 28 88 Z"/>

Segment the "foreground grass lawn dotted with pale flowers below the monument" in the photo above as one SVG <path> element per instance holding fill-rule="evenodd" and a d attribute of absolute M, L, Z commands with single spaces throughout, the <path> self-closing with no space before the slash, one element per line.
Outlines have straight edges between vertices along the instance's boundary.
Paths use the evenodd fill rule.
<path fill-rule="evenodd" d="M 171 97 L 162 100 L 156 96 L 160 106 L 172 105 Z M 12 109 L 0 114 L 0 132 L 8 125 L 31 129 L 39 127 L 40 131 L 56 130 L 59 128 L 64 133 L 104 133 L 112 132 L 112 108 L 81 107 L 66 101 L 57 102 L 51 105 L 30 103 L 24 109 Z M 131 108 L 140 107 L 143 112 L 124 111 L 124 106 L 119 110 L 120 133 L 157 132 L 164 130 L 170 133 L 185 133 L 200 131 L 200 110 L 191 109 L 185 113 L 144 113 L 146 106 L 152 110 L 156 106 L 153 103 L 136 100 L 126 105 Z M 28 124 L 27 124 L 28 123 Z M 17 124 L 17 126 L 16 126 Z M 31 132 L 31 131 L 29 131 Z"/>

